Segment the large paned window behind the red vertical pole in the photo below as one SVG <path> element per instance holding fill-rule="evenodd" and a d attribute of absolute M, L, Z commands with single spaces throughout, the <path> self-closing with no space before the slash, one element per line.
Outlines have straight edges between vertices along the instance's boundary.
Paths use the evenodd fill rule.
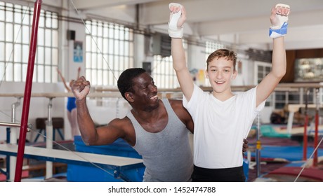
<path fill-rule="evenodd" d="M 25 81 L 33 10 L 0 2 L 0 80 Z M 58 14 L 41 10 L 33 82 L 57 82 Z"/>

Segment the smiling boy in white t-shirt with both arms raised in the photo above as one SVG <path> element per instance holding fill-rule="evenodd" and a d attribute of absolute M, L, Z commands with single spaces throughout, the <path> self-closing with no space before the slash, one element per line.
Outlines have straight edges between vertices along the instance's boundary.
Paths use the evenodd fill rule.
<path fill-rule="evenodd" d="M 232 94 L 231 81 L 237 76 L 235 52 L 216 50 L 209 55 L 206 78 L 213 91 L 203 92 L 195 85 L 186 67 L 182 36 L 185 8 L 171 3 L 169 35 L 173 68 L 183 91 L 183 106 L 193 118 L 194 172 L 192 181 L 245 181 L 242 168 L 241 141 L 246 138 L 265 100 L 286 73 L 286 34 L 289 6 L 277 4 L 270 15 L 273 40 L 272 71 L 256 87 Z"/>

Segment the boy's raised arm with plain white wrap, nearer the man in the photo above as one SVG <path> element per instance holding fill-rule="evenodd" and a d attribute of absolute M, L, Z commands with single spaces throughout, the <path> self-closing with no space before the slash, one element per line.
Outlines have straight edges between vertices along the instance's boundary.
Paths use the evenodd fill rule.
<path fill-rule="evenodd" d="M 184 6 L 178 3 L 170 3 L 171 10 L 169 22 L 169 36 L 171 36 L 171 55 L 173 57 L 173 69 L 176 71 L 180 88 L 187 101 L 192 97 L 194 83 L 186 66 L 185 50 L 183 48 L 183 24 L 186 20 Z"/>

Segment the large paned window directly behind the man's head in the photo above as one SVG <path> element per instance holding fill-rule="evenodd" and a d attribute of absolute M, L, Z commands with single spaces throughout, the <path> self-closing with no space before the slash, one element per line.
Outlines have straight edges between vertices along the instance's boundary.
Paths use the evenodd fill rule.
<path fill-rule="evenodd" d="M 99 20 L 86 21 L 86 78 L 92 85 L 115 86 L 133 67 L 133 29 Z"/>

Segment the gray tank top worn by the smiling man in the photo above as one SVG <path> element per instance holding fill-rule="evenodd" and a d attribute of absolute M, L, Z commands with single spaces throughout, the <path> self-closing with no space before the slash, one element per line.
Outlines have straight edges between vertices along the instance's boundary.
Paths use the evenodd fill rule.
<path fill-rule="evenodd" d="M 191 181 L 193 158 L 186 126 L 171 108 L 168 99 L 162 99 L 169 116 L 164 130 L 147 132 L 131 111 L 127 114 L 136 132 L 133 148 L 143 157 L 143 181 Z"/>

